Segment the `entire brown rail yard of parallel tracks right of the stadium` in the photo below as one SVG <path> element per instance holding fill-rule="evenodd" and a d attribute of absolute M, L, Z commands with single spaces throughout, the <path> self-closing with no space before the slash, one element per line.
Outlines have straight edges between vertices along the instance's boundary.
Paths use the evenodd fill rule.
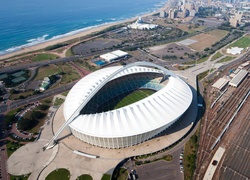
<path fill-rule="evenodd" d="M 239 178 L 235 176 L 232 179 L 246 179 L 250 177 L 249 172 L 247 172 L 247 169 L 250 169 L 250 163 L 247 163 L 250 162 L 250 141 L 248 141 L 250 138 L 250 114 L 246 113 L 250 108 L 250 98 L 247 98 L 247 94 L 250 91 L 250 76 L 246 76 L 239 87 L 227 86 L 226 88 L 225 93 L 213 106 L 207 106 L 204 119 L 201 122 L 195 179 L 204 177 L 208 164 L 219 145 L 224 146 L 226 148 L 225 154 L 228 154 L 228 156 L 223 158 L 224 161 L 222 162 L 222 167 L 220 167 L 221 174 L 219 179 L 229 179 L 230 173 L 239 175 Z M 209 101 L 212 103 L 214 97 L 210 97 Z M 244 118 L 241 124 L 244 124 L 244 127 L 241 130 L 235 129 L 238 135 L 232 136 L 235 132 L 231 133 L 231 129 L 233 129 L 231 126 L 234 126 L 235 123 L 241 120 L 242 114 L 244 114 Z M 240 135 L 241 132 L 244 133 L 244 136 Z M 229 143 L 228 138 L 233 140 L 230 139 Z M 244 165 L 239 165 L 242 162 L 241 155 L 243 154 L 248 156 L 244 159 Z M 232 157 L 232 155 L 235 156 Z M 233 164 L 232 162 L 238 162 L 235 168 L 231 165 Z M 242 172 L 238 172 L 240 170 Z M 217 176 L 219 175 L 217 174 Z"/>

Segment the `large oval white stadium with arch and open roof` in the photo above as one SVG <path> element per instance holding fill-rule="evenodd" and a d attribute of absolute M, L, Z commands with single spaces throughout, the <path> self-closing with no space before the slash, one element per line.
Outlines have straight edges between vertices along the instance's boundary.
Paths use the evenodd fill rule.
<path fill-rule="evenodd" d="M 192 102 L 190 87 L 149 62 L 107 67 L 82 78 L 64 103 L 65 123 L 78 139 L 103 148 L 125 148 L 170 128 Z"/>

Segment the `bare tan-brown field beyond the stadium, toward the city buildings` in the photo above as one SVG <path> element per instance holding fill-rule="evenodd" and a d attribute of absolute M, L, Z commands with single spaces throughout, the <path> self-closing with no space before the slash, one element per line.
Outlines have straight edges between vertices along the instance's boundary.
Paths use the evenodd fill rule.
<path fill-rule="evenodd" d="M 203 51 L 207 47 L 211 47 L 212 44 L 220 41 L 223 37 L 228 34 L 228 31 L 224 30 L 212 30 L 207 33 L 201 33 L 196 36 L 191 37 L 190 39 L 196 40 L 196 43 L 189 45 L 190 48 L 196 51 Z"/>

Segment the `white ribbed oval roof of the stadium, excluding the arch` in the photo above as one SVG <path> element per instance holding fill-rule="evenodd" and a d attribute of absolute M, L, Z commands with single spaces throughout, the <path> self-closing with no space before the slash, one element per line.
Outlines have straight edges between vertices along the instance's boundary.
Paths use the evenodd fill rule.
<path fill-rule="evenodd" d="M 116 74 L 121 69 L 124 70 Z M 142 72 L 162 73 L 158 69 L 148 67 L 115 66 L 87 75 L 71 89 L 66 98 L 64 103 L 66 121 L 105 78 L 115 74 L 112 79 L 116 79 Z M 166 86 L 147 98 L 112 111 L 79 115 L 69 125 L 81 133 L 96 137 L 132 136 L 161 128 L 178 119 L 188 109 L 191 102 L 191 89 L 173 74 L 169 77 Z"/>

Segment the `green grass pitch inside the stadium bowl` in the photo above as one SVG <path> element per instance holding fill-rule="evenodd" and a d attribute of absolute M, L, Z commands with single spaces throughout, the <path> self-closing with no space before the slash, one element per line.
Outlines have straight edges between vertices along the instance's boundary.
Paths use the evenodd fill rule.
<path fill-rule="evenodd" d="M 147 89 L 136 90 L 136 91 L 130 93 L 129 95 L 125 96 L 118 104 L 116 104 L 114 109 L 118 109 L 118 108 L 127 106 L 129 104 L 133 104 L 137 101 L 140 101 L 140 100 L 150 96 L 153 93 L 154 93 L 154 91 L 147 90 Z"/>

